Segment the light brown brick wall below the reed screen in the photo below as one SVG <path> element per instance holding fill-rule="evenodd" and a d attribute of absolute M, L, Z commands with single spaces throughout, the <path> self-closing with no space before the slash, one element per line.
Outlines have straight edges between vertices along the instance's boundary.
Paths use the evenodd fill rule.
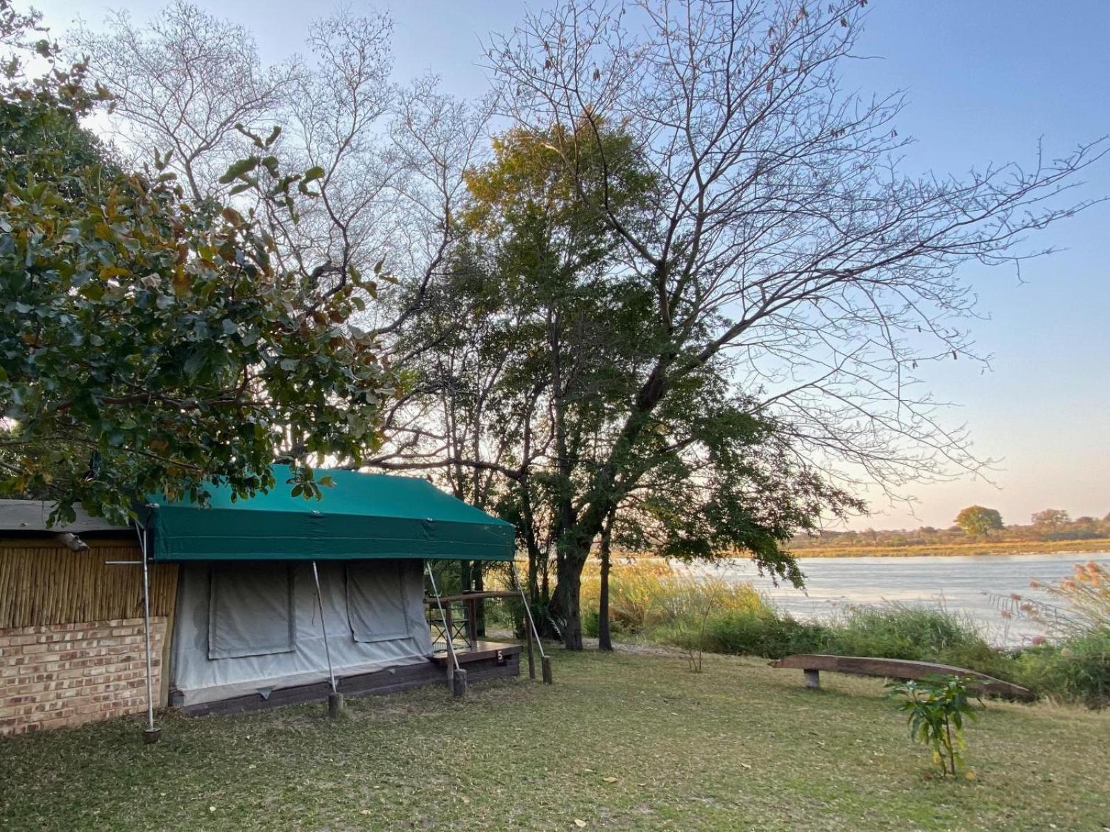
<path fill-rule="evenodd" d="M 151 617 L 154 696 L 165 617 Z M 147 709 L 141 618 L 0 629 L 0 734 Z"/>

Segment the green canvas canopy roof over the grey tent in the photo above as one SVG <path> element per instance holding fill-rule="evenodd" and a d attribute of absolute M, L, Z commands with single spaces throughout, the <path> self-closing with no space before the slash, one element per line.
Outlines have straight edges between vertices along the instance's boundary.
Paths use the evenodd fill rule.
<path fill-rule="evenodd" d="M 414 477 L 320 470 L 335 485 L 320 500 L 293 497 L 280 473 L 265 495 L 209 507 L 148 507 L 154 560 L 512 560 L 513 527 Z"/>

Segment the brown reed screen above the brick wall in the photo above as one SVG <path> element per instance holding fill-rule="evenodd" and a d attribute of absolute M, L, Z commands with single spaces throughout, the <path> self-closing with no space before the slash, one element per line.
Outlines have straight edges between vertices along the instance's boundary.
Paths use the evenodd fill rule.
<path fill-rule="evenodd" d="M 0 628 L 107 621 L 142 616 L 142 567 L 134 544 L 88 540 L 71 551 L 54 540 L 0 539 Z M 178 588 L 174 564 L 153 566 L 150 613 L 169 616 Z"/>

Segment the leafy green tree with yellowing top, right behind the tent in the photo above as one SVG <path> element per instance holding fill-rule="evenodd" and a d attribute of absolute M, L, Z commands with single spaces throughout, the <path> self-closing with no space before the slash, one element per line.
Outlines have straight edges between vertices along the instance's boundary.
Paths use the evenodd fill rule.
<path fill-rule="evenodd" d="M 561 155 L 576 144 L 577 181 Z M 654 177 L 627 135 L 607 131 L 603 144 L 625 160 L 608 171 L 609 205 L 636 223 Z M 798 584 L 784 542 L 823 509 L 858 507 L 730 388 L 725 361 L 688 374 L 634 438 L 623 436 L 645 368 L 668 336 L 635 276 L 613 271 L 620 241 L 603 212 L 578 199 L 576 187 L 602 179 L 602 155 L 589 148 L 557 128 L 511 131 L 495 141 L 494 161 L 467 177 L 472 202 L 452 277 L 405 342 L 420 356 L 416 388 L 444 418 L 435 432 L 415 423 L 411 444 L 395 435 L 398 447 L 372 460 L 442 467 L 516 522 L 533 599 L 569 647 L 582 645 L 578 587 L 598 537 L 604 606 L 614 529 L 668 556 L 745 552 Z M 421 442 L 428 436 L 433 443 Z M 606 516 L 592 526 L 595 474 L 605 466 L 616 478 L 605 486 Z"/>

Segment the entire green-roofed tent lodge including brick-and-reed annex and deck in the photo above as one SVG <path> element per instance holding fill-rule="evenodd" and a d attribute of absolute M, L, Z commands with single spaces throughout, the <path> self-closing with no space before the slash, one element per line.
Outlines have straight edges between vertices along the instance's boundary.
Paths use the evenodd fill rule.
<path fill-rule="evenodd" d="M 327 471 L 315 500 L 275 474 L 251 499 L 152 499 L 135 528 L 50 528 L 44 504 L 3 501 L 0 733 L 519 672 L 519 646 L 455 647 L 424 581 L 428 560 L 511 560 L 511 525 L 423 479 Z"/>

